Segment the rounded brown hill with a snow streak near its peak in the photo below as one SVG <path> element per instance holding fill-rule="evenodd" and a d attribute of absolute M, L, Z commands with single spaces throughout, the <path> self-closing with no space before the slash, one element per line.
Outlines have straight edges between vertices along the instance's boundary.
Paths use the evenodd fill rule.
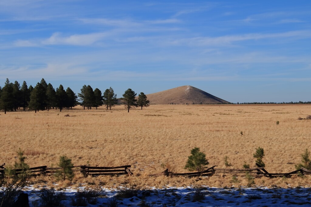
<path fill-rule="evenodd" d="M 192 86 L 180 86 L 169 90 L 147 94 L 150 104 L 228 104 L 221 98 Z"/>

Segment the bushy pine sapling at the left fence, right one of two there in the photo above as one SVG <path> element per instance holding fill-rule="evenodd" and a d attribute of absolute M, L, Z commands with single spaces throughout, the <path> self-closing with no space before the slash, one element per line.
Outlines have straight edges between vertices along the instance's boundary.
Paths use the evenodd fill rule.
<path fill-rule="evenodd" d="M 59 180 L 63 179 L 72 180 L 74 174 L 72 172 L 73 164 L 71 163 L 71 159 L 67 158 L 66 156 L 59 157 L 59 163 L 57 164 L 61 170 L 57 170 L 55 173 L 55 177 Z"/>

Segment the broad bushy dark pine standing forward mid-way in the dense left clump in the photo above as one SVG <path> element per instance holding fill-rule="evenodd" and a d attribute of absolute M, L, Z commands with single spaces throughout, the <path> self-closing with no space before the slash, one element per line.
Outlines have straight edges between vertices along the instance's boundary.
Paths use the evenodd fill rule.
<path fill-rule="evenodd" d="M 29 87 L 30 88 L 30 87 Z M 30 94 L 30 101 L 29 101 L 29 109 L 35 110 L 35 113 L 39 110 L 45 110 L 46 106 L 46 94 L 45 89 L 41 85 L 41 83 L 37 83 L 34 89 L 32 89 Z"/>

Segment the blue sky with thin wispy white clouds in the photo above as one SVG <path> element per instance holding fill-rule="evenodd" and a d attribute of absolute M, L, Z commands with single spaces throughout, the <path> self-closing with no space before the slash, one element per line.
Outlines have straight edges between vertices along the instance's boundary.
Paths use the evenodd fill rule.
<path fill-rule="evenodd" d="M 0 1 L 0 85 L 311 100 L 311 1 Z"/>

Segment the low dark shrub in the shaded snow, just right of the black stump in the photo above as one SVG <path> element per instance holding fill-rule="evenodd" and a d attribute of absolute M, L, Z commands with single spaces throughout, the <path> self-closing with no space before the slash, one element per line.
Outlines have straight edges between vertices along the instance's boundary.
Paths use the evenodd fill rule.
<path fill-rule="evenodd" d="M 56 207 L 60 206 L 62 200 L 65 200 L 65 194 L 61 191 L 55 191 L 54 189 L 44 189 L 38 194 L 41 199 L 41 204 L 44 207 Z"/>

